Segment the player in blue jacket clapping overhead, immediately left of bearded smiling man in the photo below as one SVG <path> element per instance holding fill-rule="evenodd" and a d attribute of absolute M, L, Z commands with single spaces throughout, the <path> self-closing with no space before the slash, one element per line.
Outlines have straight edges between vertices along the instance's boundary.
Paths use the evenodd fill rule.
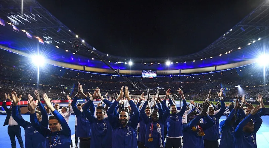
<path fill-rule="evenodd" d="M 96 108 L 96 116 L 91 113 L 93 110 L 89 110 L 89 106 L 93 105 L 93 100 L 97 99 L 98 97 L 108 106 L 110 107 L 112 102 L 104 99 L 101 96 L 100 89 L 97 88 L 94 91 L 93 97 L 89 100 L 83 109 L 85 116 L 91 123 L 91 145 L 92 148 L 111 148 L 112 147 L 112 127 L 108 121 L 108 118 L 105 118 L 105 108 L 99 106 Z"/>

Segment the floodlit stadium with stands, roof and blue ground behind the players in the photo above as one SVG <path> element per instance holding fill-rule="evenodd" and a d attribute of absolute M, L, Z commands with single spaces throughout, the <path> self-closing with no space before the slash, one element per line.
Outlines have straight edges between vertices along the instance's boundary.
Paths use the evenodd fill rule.
<path fill-rule="evenodd" d="M 68 108 L 72 99 L 69 100 L 67 96 L 76 96 L 78 82 L 85 94 L 89 92 L 93 95 L 98 87 L 102 96 L 111 102 L 116 100 L 113 94 L 120 94 L 122 86 L 128 86 L 129 96 L 135 103 L 142 93 L 145 93 L 145 101 L 148 93 L 151 97 L 157 97 L 157 90 L 160 99 L 166 100 L 166 91 L 171 89 L 169 99 L 173 100 L 177 110 L 181 110 L 185 99 L 178 88 L 183 90 L 188 105 L 192 106 L 191 100 L 195 106 L 195 103 L 202 103 L 208 97 L 214 108 L 217 108 L 216 103 L 220 100 L 217 92 L 223 88 L 225 112 L 220 121 L 231 113 L 231 103 L 234 104 L 238 98 L 244 96 L 247 103 L 256 107 L 260 105 L 256 100 L 258 95 L 262 96 L 265 108 L 264 116 L 260 117 L 262 125 L 256 133 L 256 147 L 268 147 L 268 0 L 260 0 L 251 13 L 219 34 L 204 49 L 169 57 L 125 57 L 118 56 L 116 52 L 115 55 L 111 52 L 108 54 L 103 49 L 91 46 L 90 40 L 85 40 L 86 37 L 68 28 L 47 9 L 36 0 L 0 0 L 0 124 L 4 124 L 8 114 L 2 107 L 6 100 L 5 93 L 11 95 L 13 91 L 22 95 L 18 107 L 23 119 L 32 123 L 27 104 L 28 94 L 34 96 L 34 90 L 38 90 L 41 96 L 46 93 L 53 105 L 57 103 L 60 107 Z M 162 50 L 165 52 L 168 49 Z M 43 97 L 41 102 L 45 104 Z M 87 101 L 80 97 L 77 102 L 83 104 Z M 93 100 L 94 106 L 100 102 L 104 106 L 100 98 Z M 4 104 L 10 108 L 13 103 L 7 100 Z M 76 116 L 74 111 L 68 111 L 71 113 L 68 118 L 71 144 L 76 147 Z M 25 144 L 25 130 L 21 129 Z M 0 131 L 1 144 L 10 148 L 8 127 L 1 127 Z M 17 138 L 16 145 L 20 145 Z"/>

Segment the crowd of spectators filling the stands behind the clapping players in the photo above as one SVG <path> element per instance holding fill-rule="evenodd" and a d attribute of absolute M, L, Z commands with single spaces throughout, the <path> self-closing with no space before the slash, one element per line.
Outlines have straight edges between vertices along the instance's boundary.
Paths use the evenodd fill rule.
<path fill-rule="evenodd" d="M 39 70 L 31 64 L 30 59 L 6 51 L 0 51 L 0 99 L 4 93 L 16 91 L 26 100 L 27 94 L 33 94 L 38 89 L 42 94 L 46 92 L 51 99 L 66 99 L 66 95 L 73 94 L 77 81 L 80 81 L 85 91 L 93 92 L 96 87 L 110 94 L 118 92 L 122 85 L 128 85 L 130 94 L 141 94 L 132 84 L 119 76 L 107 76 L 89 74 L 83 71 L 75 71 L 52 65 L 45 65 Z M 254 71 L 253 69 L 258 69 Z M 258 71 L 258 72 L 257 72 Z M 236 95 L 245 95 L 249 100 L 255 100 L 257 94 L 261 94 L 264 100 L 269 100 L 268 79 L 264 78 L 263 71 L 255 65 L 248 65 L 233 70 L 227 70 L 211 74 L 191 76 L 167 76 L 153 79 L 142 77 L 128 77 L 134 84 L 138 82 L 141 88 L 148 87 L 154 94 L 157 88 L 160 93 L 171 88 L 176 94 L 177 88 L 184 90 L 185 97 L 191 99 L 204 99 L 211 88 L 212 98 L 218 98 L 216 92 L 224 88 L 224 98 L 232 99 Z M 238 87 L 240 85 L 240 87 Z M 145 87 L 146 86 L 146 87 Z M 74 94 L 73 94 L 74 95 Z M 108 95 L 108 96 L 109 96 Z M 178 96 L 173 96 L 178 99 Z"/>

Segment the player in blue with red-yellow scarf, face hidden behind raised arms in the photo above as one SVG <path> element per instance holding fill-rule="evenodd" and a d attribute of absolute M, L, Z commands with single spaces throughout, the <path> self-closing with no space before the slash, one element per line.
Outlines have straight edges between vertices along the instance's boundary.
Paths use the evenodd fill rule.
<path fill-rule="evenodd" d="M 204 102 L 202 111 L 199 114 L 196 112 L 189 113 L 189 122 L 182 125 L 184 148 L 204 148 L 204 130 L 212 127 L 214 124 L 211 117 L 206 113 L 208 105 L 209 102 Z M 200 123 L 202 117 L 204 123 Z"/>

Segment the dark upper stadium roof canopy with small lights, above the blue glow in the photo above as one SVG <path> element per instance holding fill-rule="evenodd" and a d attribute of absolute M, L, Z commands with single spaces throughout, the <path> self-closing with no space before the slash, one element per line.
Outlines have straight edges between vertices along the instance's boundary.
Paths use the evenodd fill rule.
<path fill-rule="evenodd" d="M 60 48 L 63 50 L 73 50 L 72 45 L 77 38 L 76 33 L 72 32 L 68 27 L 55 18 L 48 10 L 42 7 L 35 0 L 23 1 L 23 9 L 21 1 L 0 0 L 1 9 L 0 17 L 8 18 L 13 24 L 17 25 L 20 29 L 30 31 L 34 35 L 43 36 L 45 41 L 56 43 L 59 42 Z M 267 38 L 269 36 L 266 31 L 269 27 L 269 4 L 268 0 L 263 2 L 258 8 L 253 10 L 252 13 L 247 15 L 242 21 L 236 24 L 227 32 L 224 32 L 220 38 L 215 40 L 212 44 L 207 46 L 200 52 L 181 57 L 169 57 L 170 60 L 177 62 L 199 60 L 201 58 L 214 57 L 219 54 L 224 54 L 228 51 L 238 50 L 239 47 L 243 48 L 248 43 L 252 43 L 258 38 Z M 23 15 L 22 15 L 23 14 Z M 74 20 L 70 20 L 74 21 Z M 51 38 L 48 38 L 51 37 Z M 82 41 L 81 38 L 78 38 Z M 94 47 L 88 45 L 88 48 Z M 80 49 L 80 54 L 87 55 L 88 49 Z M 96 50 L 98 54 L 102 55 L 110 61 L 125 61 L 126 57 L 113 56 L 102 53 Z M 88 53 L 90 54 L 90 53 Z M 88 56 L 88 55 L 87 55 Z M 89 55 L 90 56 L 90 55 Z M 145 62 L 166 62 L 166 58 L 132 58 L 134 63 Z"/>

